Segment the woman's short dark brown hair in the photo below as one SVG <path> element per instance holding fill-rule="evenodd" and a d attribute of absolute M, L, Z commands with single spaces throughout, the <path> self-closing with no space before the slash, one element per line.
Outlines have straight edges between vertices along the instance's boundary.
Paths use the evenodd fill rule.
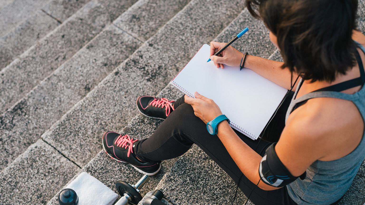
<path fill-rule="evenodd" d="M 357 0 L 246 0 L 246 6 L 276 35 L 283 68 L 304 80 L 333 82 L 355 65 Z"/>

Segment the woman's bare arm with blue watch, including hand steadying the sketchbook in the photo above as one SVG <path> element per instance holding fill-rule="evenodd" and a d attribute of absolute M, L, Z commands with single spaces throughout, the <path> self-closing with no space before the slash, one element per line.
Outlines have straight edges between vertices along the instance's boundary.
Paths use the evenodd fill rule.
<path fill-rule="evenodd" d="M 192 105 L 195 115 L 203 120 L 204 123 L 222 115 L 218 105 L 213 100 L 201 96 L 197 92 L 195 97 L 185 96 L 185 102 Z M 300 124 L 300 121 L 298 123 Z M 287 124 L 275 150 L 289 172 L 293 176 L 300 176 L 312 162 L 318 159 L 320 153 L 316 150 L 321 150 L 318 146 L 322 146 L 322 144 L 316 143 L 315 137 L 308 139 L 308 131 L 305 129 L 306 124 L 300 124 L 301 129 L 292 129 L 291 127 L 293 126 L 290 123 Z M 260 181 L 258 170 L 262 157 L 237 136 L 227 121 L 222 121 L 218 124 L 217 136 L 242 173 L 251 182 L 257 184 Z M 295 136 L 295 138 L 292 136 Z M 262 181 L 258 183 L 258 186 L 264 190 L 278 189 L 278 187 L 267 185 Z"/>

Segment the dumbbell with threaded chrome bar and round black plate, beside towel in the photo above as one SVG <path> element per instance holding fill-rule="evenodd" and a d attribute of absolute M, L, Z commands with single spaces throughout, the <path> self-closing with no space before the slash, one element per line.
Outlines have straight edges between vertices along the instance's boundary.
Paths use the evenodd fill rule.
<path fill-rule="evenodd" d="M 115 205 L 126 205 L 132 204 L 137 205 L 139 201 L 142 200 L 141 194 L 139 194 L 139 189 L 141 188 L 147 181 L 149 180 L 149 176 L 147 174 L 143 175 L 141 179 L 134 185 L 127 183 L 125 181 L 118 181 L 115 183 L 116 190 L 119 192 L 120 198 Z"/>

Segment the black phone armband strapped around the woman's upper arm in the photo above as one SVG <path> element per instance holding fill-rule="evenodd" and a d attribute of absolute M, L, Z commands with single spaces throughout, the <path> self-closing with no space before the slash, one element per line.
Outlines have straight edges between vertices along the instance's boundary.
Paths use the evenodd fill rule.
<path fill-rule="evenodd" d="M 294 177 L 280 161 L 275 152 L 275 144 L 273 143 L 266 149 L 266 154 L 261 159 L 258 172 L 261 181 L 267 185 L 281 187 L 295 181 L 298 177 Z M 300 178 L 306 178 L 306 172 Z"/>

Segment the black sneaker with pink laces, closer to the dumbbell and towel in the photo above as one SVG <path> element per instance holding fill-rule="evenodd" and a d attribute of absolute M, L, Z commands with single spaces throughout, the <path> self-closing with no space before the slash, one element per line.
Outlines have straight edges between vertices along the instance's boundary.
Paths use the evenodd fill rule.
<path fill-rule="evenodd" d="M 160 162 L 143 163 L 133 154 L 133 143 L 138 140 L 131 139 L 128 135 L 120 135 L 116 132 L 105 132 L 103 135 L 103 148 L 107 154 L 118 162 L 130 163 L 134 169 L 149 176 L 160 171 Z M 128 149 L 127 149 L 128 148 Z"/>

